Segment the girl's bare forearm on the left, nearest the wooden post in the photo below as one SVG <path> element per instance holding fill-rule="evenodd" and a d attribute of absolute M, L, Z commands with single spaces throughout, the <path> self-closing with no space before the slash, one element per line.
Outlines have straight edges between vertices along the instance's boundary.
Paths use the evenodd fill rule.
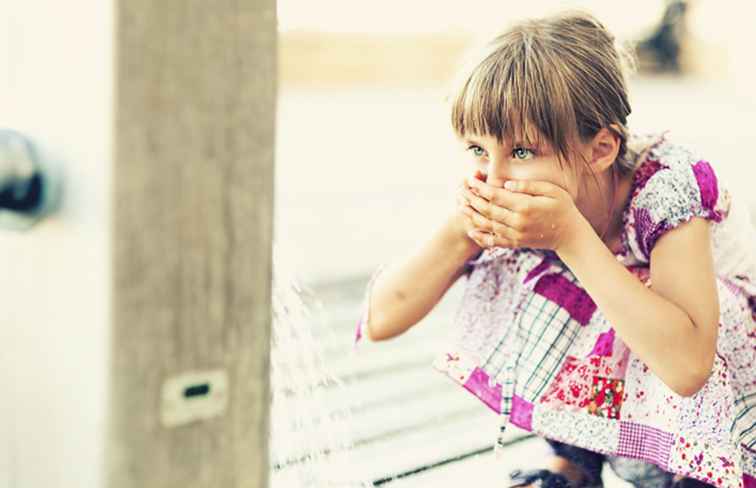
<path fill-rule="evenodd" d="M 419 322 L 480 251 L 467 236 L 464 215 L 454 214 L 417 251 L 377 276 L 365 324 L 369 339 L 390 339 Z"/>

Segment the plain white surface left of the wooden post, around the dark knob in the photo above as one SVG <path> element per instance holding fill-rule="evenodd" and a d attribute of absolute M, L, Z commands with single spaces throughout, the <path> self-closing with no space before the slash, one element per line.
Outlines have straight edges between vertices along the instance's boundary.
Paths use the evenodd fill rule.
<path fill-rule="evenodd" d="M 0 487 L 101 485 L 112 2 L 0 0 L 0 127 L 59 161 L 60 213 L 0 230 Z"/>

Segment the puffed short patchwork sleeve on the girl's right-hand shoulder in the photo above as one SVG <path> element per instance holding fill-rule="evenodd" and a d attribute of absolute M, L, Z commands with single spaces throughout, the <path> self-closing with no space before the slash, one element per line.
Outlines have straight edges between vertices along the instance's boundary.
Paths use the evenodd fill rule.
<path fill-rule="evenodd" d="M 714 168 L 676 148 L 656 154 L 656 171 L 643 182 L 631 202 L 629 245 L 640 259 L 650 260 L 659 239 L 670 230 L 701 217 L 720 222 L 727 207 Z"/>

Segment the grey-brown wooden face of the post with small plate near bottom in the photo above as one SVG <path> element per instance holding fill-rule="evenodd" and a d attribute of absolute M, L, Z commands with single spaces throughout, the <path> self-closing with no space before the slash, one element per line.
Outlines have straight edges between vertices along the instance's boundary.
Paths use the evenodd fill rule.
<path fill-rule="evenodd" d="M 275 0 L 116 4 L 106 486 L 264 487 Z"/>

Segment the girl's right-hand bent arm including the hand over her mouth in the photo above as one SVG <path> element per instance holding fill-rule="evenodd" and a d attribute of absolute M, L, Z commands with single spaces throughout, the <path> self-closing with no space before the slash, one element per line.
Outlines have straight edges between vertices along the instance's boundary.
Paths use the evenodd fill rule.
<path fill-rule="evenodd" d="M 649 256 L 651 288 L 607 249 L 561 188 L 473 182 L 473 239 L 491 245 L 553 249 L 628 347 L 673 391 L 689 396 L 706 382 L 716 351 L 719 299 L 708 223 L 694 217 L 667 231 Z M 512 191 L 507 191 L 509 188 Z M 514 193 L 517 192 L 517 193 Z M 491 202 L 489 204 L 488 202 Z"/>

